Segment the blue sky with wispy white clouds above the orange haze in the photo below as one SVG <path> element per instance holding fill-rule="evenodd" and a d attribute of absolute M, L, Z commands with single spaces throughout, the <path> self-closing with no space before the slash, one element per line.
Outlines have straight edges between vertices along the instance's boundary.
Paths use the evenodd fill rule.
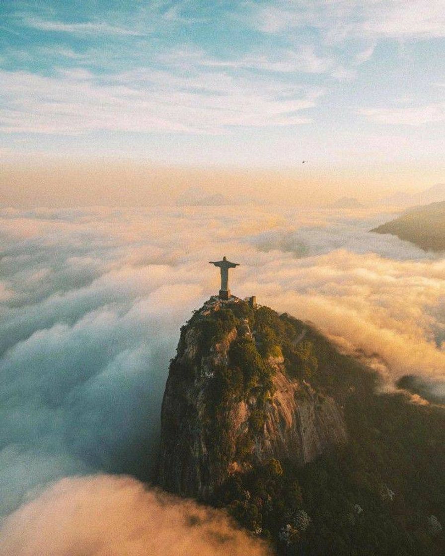
<path fill-rule="evenodd" d="M 4 156 L 445 166 L 443 0 L 0 10 Z"/>

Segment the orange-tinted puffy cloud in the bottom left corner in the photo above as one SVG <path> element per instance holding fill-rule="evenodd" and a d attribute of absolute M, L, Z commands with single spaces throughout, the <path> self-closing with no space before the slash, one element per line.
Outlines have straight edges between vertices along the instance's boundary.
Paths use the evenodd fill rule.
<path fill-rule="evenodd" d="M 62 479 L 12 514 L 1 556 L 265 556 L 221 511 L 101 475 Z"/>

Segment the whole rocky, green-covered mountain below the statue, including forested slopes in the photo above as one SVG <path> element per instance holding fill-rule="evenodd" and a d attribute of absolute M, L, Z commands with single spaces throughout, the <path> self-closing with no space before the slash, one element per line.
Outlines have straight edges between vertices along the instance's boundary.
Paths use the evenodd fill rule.
<path fill-rule="evenodd" d="M 208 380 L 199 379 L 209 370 Z M 182 329 L 169 381 L 166 488 L 227 508 L 277 554 L 445 554 L 443 407 L 379 393 L 377 373 L 313 327 L 244 302 L 195 312 Z M 178 398 L 184 390 L 186 403 Z M 283 405 L 286 395 L 295 405 Z M 322 443 L 303 461 L 292 458 L 314 440 L 310 426 L 326 426 L 327 415 L 335 419 L 322 411 L 327 400 L 341 408 L 347 441 Z M 296 416 L 284 424 L 290 408 Z M 186 427 L 184 435 L 178 427 Z M 280 435 L 289 450 L 276 441 Z M 184 443 L 190 443 L 184 453 L 193 453 L 185 463 L 184 456 L 175 460 Z M 261 459 L 267 446 L 272 450 Z"/>

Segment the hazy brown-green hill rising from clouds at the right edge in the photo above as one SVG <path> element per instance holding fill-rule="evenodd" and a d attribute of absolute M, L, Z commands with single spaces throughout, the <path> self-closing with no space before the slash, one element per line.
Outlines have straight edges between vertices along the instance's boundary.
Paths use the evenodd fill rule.
<path fill-rule="evenodd" d="M 411 241 L 425 251 L 445 250 L 445 201 L 409 210 L 371 230 Z"/>

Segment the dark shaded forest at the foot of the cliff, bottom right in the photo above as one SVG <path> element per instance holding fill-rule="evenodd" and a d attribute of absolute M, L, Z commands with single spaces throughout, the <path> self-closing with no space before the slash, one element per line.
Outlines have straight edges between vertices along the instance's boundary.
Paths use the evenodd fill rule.
<path fill-rule="evenodd" d="M 444 554 L 444 411 L 371 392 L 345 409 L 347 445 L 300 468 L 273 461 L 233 475 L 215 505 L 278 554 Z"/>

